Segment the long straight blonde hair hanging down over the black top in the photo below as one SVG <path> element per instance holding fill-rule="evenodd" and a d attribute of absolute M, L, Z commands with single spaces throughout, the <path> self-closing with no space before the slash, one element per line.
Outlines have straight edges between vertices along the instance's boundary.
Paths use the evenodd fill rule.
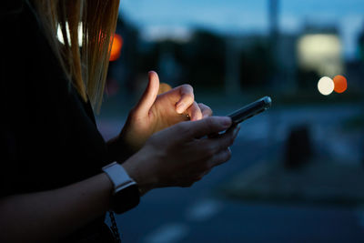
<path fill-rule="evenodd" d="M 66 77 L 79 95 L 85 101 L 89 98 L 98 110 L 104 94 L 119 0 L 35 0 L 33 4 Z M 63 43 L 57 38 L 58 29 Z"/>

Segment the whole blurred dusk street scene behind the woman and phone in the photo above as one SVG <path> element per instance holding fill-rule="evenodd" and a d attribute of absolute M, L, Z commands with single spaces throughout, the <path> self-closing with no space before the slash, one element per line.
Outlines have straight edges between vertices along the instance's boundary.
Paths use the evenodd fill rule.
<path fill-rule="evenodd" d="M 117 216 L 125 242 L 364 242 L 362 0 L 122 0 L 116 34 L 106 139 L 149 70 L 194 86 L 215 115 L 273 101 L 227 164 Z"/>

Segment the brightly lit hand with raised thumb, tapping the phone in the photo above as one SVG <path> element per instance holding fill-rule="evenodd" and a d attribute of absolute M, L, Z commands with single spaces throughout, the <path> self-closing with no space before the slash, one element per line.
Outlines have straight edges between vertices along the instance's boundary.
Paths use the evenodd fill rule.
<path fill-rule="evenodd" d="M 158 95 L 157 73 L 150 71 L 148 79 L 143 96 L 129 112 L 120 135 L 114 139 L 117 144 L 126 146 L 132 152 L 143 147 L 147 138 L 157 131 L 181 121 L 212 116 L 212 110 L 208 106 L 197 104 L 192 86 L 177 86 Z"/>

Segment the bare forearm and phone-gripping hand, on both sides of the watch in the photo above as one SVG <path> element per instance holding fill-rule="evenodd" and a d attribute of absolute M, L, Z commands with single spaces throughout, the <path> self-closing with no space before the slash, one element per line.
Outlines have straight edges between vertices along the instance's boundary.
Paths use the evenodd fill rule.
<path fill-rule="evenodd" d="M 228 147 L 238 135 L 228 117 L 179 123 L 154 134 L 124 163 L 126 172 L 146 193 L 156 187 L 189 187 L 212 167 L 228 160 Z M 0 199 L 0 242 L 51 241 L 103 215 L 112 183 L 106 174 L 55 190 Z"/>

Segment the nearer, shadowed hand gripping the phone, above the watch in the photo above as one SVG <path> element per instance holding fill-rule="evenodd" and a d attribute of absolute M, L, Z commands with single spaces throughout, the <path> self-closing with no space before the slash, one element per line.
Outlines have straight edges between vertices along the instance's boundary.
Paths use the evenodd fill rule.
<path fill-rule="evenodd" d="M 226 129 L 216 137 L 207 137 Z M 143 193 L 156 187 L 190 187 L 230 158 L 229 146 L 238 130 L 225 116 L 181 122 L 150 137 L 123 167 Z"/>

